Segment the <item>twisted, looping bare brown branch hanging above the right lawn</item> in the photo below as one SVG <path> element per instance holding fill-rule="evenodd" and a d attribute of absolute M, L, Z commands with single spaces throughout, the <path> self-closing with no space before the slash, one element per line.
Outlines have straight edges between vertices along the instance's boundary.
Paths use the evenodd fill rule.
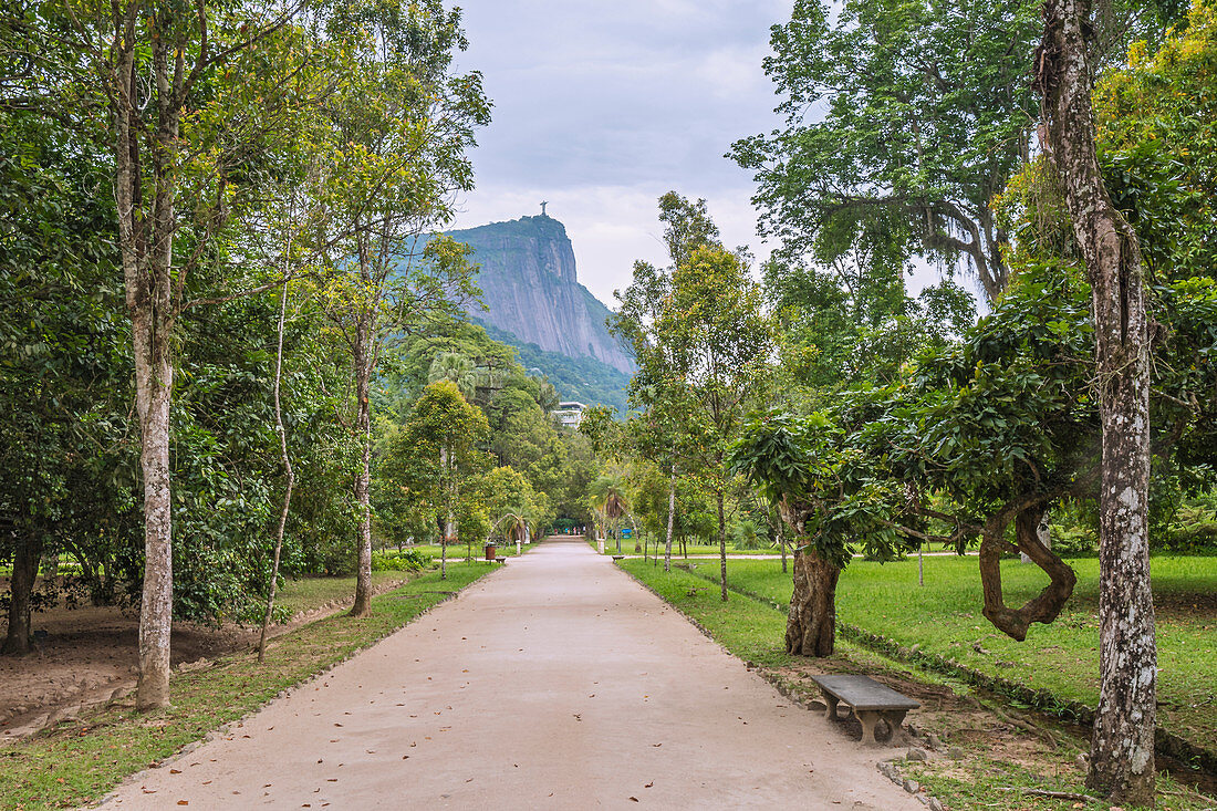
<path fill-rule="evenodd" d="M 985 522 L 981 535 L 980 569 L 981 587 L 985 593 L 985 619 L 1006 636 L 1022 642 L 1032 622 L 1051 622 L 1065 602 L 1073 593 L 1077 575 L 1069 564 L 1039 542 L 1039 522 L 1044 516 L 1044 504 L 1032 504 L 1022 510 L 1013 505 Z M 1044 570 L 1049 582 L 1036 597 L 1021 608 L 1011 609 L 1002 595 L 1002 554 L 1010 550 L 1005 542 L 1005 527 L 1014 520 L 1017 549 L 1033 564 Z"/>

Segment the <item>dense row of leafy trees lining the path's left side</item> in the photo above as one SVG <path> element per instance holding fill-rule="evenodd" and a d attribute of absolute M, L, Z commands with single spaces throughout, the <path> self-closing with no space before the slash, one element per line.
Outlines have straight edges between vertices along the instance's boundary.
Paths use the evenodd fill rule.
<path fill-rule="evenodd" d="M 32 0 L 0 39 L 5 650 L 67 552 L 138 594 L 163 706 L 173 616 L 257 614 L 275 525 L 296 571 L 357 536 L 368 611 L 372 381 L 476 293 L 431 234 L 489 102 L 438 1 Z"/>

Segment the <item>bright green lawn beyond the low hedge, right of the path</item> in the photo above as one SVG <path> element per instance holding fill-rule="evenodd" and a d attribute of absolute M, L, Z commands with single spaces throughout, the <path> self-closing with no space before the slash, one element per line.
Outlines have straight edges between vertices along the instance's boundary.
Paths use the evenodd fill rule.
<path fill-rule="evenodd" d="M 983 673 L 1047 689 L 1062 699 L 1098 701 L 1098 567 L 1069 561 L 1078 582 L 1050 625 L 1033 625 L 1015 642 L 981 615 L 977 559 L 925 558 L 925 587 L 916 559 L 877 564 L 854 560 L 837 586 L 837 619 L 901 645 L 954 659 Z M 717 582 L 718 564 L 695 563 Z M 1217 748 L 1217 558 L 1159 556 L 1151 563 L 1157 615 L 1159 723 L 1207 749 Z M 733 560 L 728 583 L 778 603 L 792 585 L 775 560 Z M 1048 577 L 1030 564 L 1002 564 L 1005 600 L 1021 605 Z"/>

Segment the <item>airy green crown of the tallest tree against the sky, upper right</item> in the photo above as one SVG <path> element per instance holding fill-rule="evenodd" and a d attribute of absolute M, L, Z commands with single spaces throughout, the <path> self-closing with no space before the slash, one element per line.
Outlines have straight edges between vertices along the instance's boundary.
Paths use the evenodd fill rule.
<path fill-rule="evenodd" d="M 859 246 L 965 259 L 996 301 L 1006 236 L 989 198 L 1028 158 L 1037 7 L 798 0 L 764 62 L 786 125 L 730 152 L 756 172 L 762 231 L 825 264 Z"/>

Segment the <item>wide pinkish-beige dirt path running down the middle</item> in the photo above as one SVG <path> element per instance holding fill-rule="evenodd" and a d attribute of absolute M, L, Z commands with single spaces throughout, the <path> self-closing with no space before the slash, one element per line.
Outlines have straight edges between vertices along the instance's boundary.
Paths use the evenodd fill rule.
<path fill-rule="evenodd" d="M 103 807 L 924 809 L 893 754 L 556 537 Z"/>

